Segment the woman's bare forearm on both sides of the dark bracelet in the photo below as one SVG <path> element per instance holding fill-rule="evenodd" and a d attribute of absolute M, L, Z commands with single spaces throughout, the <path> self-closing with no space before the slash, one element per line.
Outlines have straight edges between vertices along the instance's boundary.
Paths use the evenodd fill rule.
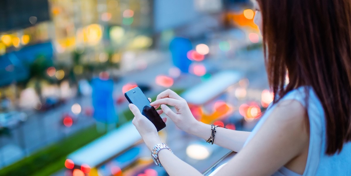
<path fill-rule="evenodd" d="M 214 144 L 235 152 L 239 152 L 243 148 L 247 137 L 250 135 L 250 132 L 247 131 L 230 130 L 220 127 L 217 127 L 216 131 Z M 211 136 L 211 125 L 199 122 L 188 133 L 207 140 Z"/>

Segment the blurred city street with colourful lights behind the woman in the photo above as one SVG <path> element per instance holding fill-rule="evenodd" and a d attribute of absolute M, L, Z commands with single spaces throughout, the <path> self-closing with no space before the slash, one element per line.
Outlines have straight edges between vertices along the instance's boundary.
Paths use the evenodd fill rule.
<path fill-rule="evenodd" d="M 87 148 L 98 154 L 94 143 L 130 123 L 124 93 L 136 86 L 147 97 L 166 89 L 182 96 L 234 71 L 236 82 L 219 92 L 218 85 L 205 87 L 201 92 L 208 94 L 194 96 L 217 94 L 188 104 L 201 122 L 236 130 L 252 130 L 271 102 L 250 1 L 40 1 L 31 9 L 19 9 L 22 0 L 3 4 L 0 175 L 167 175 L 144 144 L 121 143 L 120 151 L 95 159 L 95 165 L 68 158 Z M 22 21 L 8 15 L 20 10 L 28 11 Z M 171 120 L 161 138 L 201 172 L 229 152 L 180 131 Z"/>

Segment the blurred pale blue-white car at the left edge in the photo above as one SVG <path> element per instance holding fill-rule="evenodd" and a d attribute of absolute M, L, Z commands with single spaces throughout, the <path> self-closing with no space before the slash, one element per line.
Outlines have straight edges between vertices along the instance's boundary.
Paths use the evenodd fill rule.
<path fill-rule="evenodd" d="M 10 111 L 0 114 L 0 128 L 13 128 L 21 122 L 27 120 L 25 112 Z"/>

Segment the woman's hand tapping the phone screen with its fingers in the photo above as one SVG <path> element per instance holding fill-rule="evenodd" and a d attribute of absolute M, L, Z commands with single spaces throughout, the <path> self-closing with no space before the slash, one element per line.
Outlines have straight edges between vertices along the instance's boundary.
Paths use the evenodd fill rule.
<path fill-rule="evenodd" d="M 188 104 L 184 98 L 181 98 L 176 92 L 167 89 L 161 92 L 156 100 L 150 103 L 157 109 L 161 105 L 163 112 L 171 118 L 171 120 L 178 126 L 179 129 L 190 132 L 199 122 L 192 115 Z M 170 107 L 174 106 L 176 112 L 173 112 Z"/>

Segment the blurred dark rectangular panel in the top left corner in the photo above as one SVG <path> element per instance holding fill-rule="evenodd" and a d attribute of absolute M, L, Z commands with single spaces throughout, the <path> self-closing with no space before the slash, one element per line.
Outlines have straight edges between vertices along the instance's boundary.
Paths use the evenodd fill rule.
<path fill-rule="evenodd" d="M 0 32 L 49 20 L 47 0 L 0 0 Z"/>

